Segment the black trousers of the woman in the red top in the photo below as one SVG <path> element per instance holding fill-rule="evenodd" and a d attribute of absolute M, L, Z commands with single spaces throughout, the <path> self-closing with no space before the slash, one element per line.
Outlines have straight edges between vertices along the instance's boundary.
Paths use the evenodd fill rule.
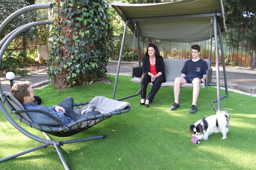
<path fill-rule="evenodd" d="M 151 82 L 151 76 L 148 74 L 143 74 L 141 76 L 140 79 L 140 95 L 141 98 L 146 98 L 146 92 L 147 92 L 147 87 L 148 87 L 148 83 Z M 164 77 L 163 76 L 159 76 L 155 79 L 155 81 L 153 81 L 153 86 L 151 88 L 151 91 L 148 93 L 148 97 L 146 99 L 148 99 L 150 102 L 153 101 L 155 95 L 157 94 L 160 85 L 162 84 L 162 82 L 164 82 Z"/>

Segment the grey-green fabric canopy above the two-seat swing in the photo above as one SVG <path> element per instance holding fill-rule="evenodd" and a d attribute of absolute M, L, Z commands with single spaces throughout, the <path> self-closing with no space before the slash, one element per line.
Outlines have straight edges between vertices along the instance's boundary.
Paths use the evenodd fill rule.
<path fill-rule="evenodd" d="M 157 4 L 111 6 L 134 33 L 135 22 L 140 37 L 164 41 L 193 43 L 211 38 L 211 18 L 217 14 L 221 31 L 225 30 L 222 0 L 183 0 Z M 212 33 L 214 37 L 214 32 Z"/>

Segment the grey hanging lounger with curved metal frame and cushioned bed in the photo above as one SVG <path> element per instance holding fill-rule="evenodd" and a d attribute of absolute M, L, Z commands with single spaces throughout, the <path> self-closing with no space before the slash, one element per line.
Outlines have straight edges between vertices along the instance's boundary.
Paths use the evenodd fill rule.
<path fill-rule="evenodd" d="M 52 7 L 53 7 L 52 4 L 34 4 L 34 5 L 29 5 L 27 7 L 24 7 L 16 12 L 14 12 L 9 17 L 7 17 L 6 20 L 4 20 L 1 23 L 0 35 L 4 31 L 5 27 L 19 15 L 21 15 L 25 12 L 28 12 L 28 11 L 36 10 L 36 9 L 47 9 L 47 8 L 52 8 Z M 0 48 L 1 48 L 0 49 L 0 65 L 1 65 L 2 57 L 4 55 L 4 51 L 7 49 L 7 47 L 9 46 L 9 44 L 12 42 L 12 40 L 15 37 L 20 35 L 20 33 L 22 33 L 23 31 L 29 29 L 30 27 L 35 27 L 37 25 L 53 24 L 53 22 L 54 22 L 53 20 L 49 20 L 49 21 L 39 21 L 39 22 L 28 23 L 26 25 L 18 27 L 17 29 L 15 29 L 11 33 L 9 33 L 7 36 L 5 36 L 0 42 Z M 2 90 L 2 86 L 1 86 L 1 82 L 0 82 L 0 110 L 3 113 L 3 115 L 18 131 L 20 131 L 27 137 L 31 138 L 32 140 L 42 143 L 42 145 L 36 146 L 34 148 L 22 151 L 20 153 L 16 153 L 12 156 L 1 158 L 0 162 L 7 161 L 12 158 L 16 158 L 18 156 L 24 155 L 26 153 L 30 153 L 32 151 L 35 151 L 35 150 L 38 150 L 41 148 L 46 148 L 49 145 L 53 145 L 64 168 L 66 170 L 69 170 L 69 166 L 67 165 L 67 162 L 64 159 L 64 156 L 62 155 L 61 150 L 60 150 L 61 145 L 68 144 L 68 143 L 77 143 L 77 142 L 83 142 L 83 141 L 89 141 L 89 140 L 103 139 L 106 136 L 101 135 L 101 136 L 95 136 L 95 137 L 79 138 L 79 139 L 74 139 L 74 140 L 55 141 L 55 140 L 50 139 L 48 134 L 58 136 L 58 137 L 72 136 L 72 135 L 82 132 L 83 130 L 89 129 L 90 127 L 94 126 L 95 124 L 98 124 L 99 122 L 102 122 L 103 120 L 110 118 L 113 115 L 127 113 L 130 111 L 130 108 L 131 108 L 131 105 L 128 102 L 116 101 L 116 100 L 109 99 L 109 98 L 106 98 L 103 96 L 96 96 L 91 101 L 74 103 L 73 108 L 80 108 L 80 107 L 89 106 L 92 104 L 96 106 L 96 108 L 94 110 L 99 111 L 100 114 L 97 114 L 94 116 L 83 117 L 75 122 L 65 125 L 62 122 L 60 122 L 59 119 L 52 116 L 48 112 L 41 111 L 41 110 L 35 110 L 35 109 L 25 110 L 23 108 L 22 104 L 10 92 L 4 92 Z M 72 110 L 72 109 L 70 109 L 70 110 Z M 75 109 L 73 111 L 75 112 Z M 54 119 L 56 122 L 58 122 L 59 127 L 44 126 L 44 125 L 39 125 L 37 123 L 34 123 L 31 121 L 29 116 L 27 116 L 27 114 L 26 114 L 27 112 L 40 112 L 40 113 L 46 114 L 46 115 L 50 116 L 52 119 Z M 10 114 L 12 114 L 14 116 L 14 118 Z M 41 131 L 45 138 L 31 134 L 26 129 L 21 127 L 20 124 L 18 124 L 16 122 L 17 120 L 22 122 L 26 126 L 29 126 L 31 128 Z"/>

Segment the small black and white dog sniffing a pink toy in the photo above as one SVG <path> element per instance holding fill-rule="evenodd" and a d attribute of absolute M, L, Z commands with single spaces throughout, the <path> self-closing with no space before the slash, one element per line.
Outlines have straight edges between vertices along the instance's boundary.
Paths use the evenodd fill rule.
<path fill-rule="evenodd" d="M 221 132 L 223 137 L 227 138 L 229 131 L 229 115 L 227 111 L 217 111 L 216 115 L 205 117 L 190 125 L 189 132 L 194 133 L 198 140 L 208 140 L 212 133 Z"/>

